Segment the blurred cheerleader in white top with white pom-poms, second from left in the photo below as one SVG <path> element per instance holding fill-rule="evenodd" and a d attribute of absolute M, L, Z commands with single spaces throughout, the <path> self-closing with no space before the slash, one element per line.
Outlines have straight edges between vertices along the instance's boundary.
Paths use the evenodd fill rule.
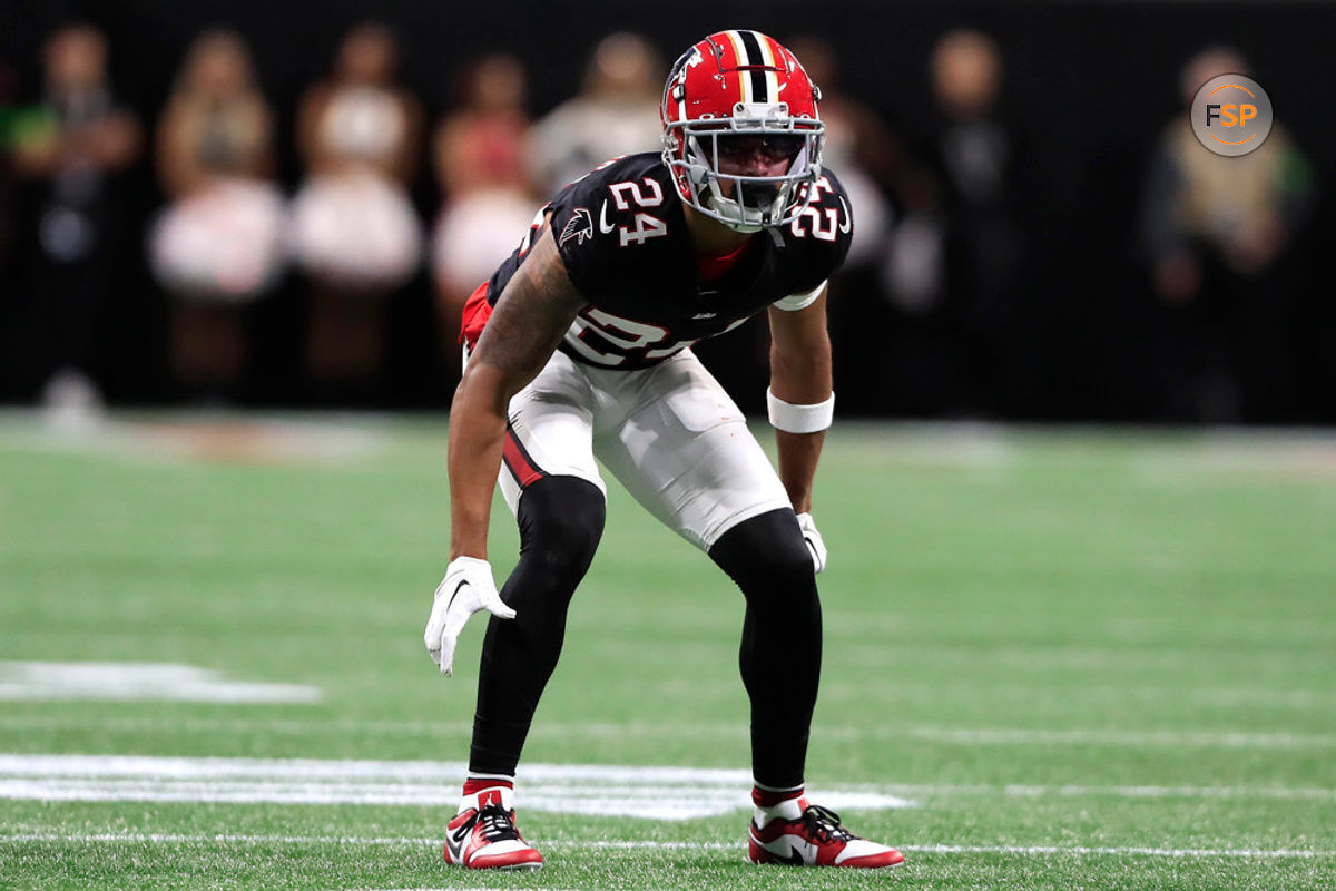
<path fill-rule="evenodd" d="M 298 148 L 307 180 L 293 204 L 298 262 L 310 275 L 306 367 L 317 382 L 362 386 L 379 371 L 385 298 L 421 260 L 422 232 L 406 187 L 418 163 L 422 112 L 397 83 L 390 32 L 347 33 L 329 80 L 302 99 Z"/>

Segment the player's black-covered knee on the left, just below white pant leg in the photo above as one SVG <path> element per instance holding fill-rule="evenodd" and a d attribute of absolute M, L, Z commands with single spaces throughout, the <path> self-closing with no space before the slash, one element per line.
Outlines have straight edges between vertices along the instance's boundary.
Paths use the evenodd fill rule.
<path fill-rule="evenodd" d="M 578 477 L 545 477 L 520 497 L 521 553 L 554 578 L 584 576 L 593 560 L 607 506 L 599 486 Z"/>

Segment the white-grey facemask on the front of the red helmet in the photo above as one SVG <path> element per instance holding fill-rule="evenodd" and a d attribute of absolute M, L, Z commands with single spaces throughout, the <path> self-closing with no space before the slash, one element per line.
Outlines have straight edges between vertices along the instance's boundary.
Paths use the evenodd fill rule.
<path fill-rule="evenodd" d="M 684 200 L 697 212 L 740 232 L 791 223 L 816 196 L 826 126 L 790 115 L 786 103 L 737 103 L 729 118 L 669 122 L 664 163 L 687 187 Z M 725 174 L 720 160 L 745 148 L 768 162 L 788 158 L 783 174 Z"/>

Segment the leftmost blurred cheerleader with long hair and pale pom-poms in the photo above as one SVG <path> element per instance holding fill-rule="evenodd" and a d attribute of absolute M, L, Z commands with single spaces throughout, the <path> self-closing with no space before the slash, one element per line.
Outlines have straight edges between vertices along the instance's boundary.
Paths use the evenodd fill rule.
<path fill-rule="evenodd" d="M 285 262 L 273 118 L 250 56 L 210 31 L 186 56 L 158 130 L 158 171 L 172 204 L 151 234 L 152 267 L 176 298 L 171 358 L 187 386 L 230 386 L 246 363 L 242 306 Z"/>

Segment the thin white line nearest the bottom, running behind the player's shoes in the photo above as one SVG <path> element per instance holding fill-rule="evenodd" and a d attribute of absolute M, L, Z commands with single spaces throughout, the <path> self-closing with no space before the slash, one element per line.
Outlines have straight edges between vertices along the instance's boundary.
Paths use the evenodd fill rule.
<path fill-rule="evenodd" d="M 236 844 L 236 846 L 402 846 L 437 847 L 437 838 L 386 838 L 341 835 L 210 835 L 171 832 L 21 832 L 0 834 L 0 844 Z M 740 842 L 655 842 L 655 840 L 574 840 L 536 839 L 540 847 L 613 851 L 741 851 Z M 1256 860 L 1328 860 L 1336 851 L 1264 848 L 1153 848 L 1082 847 L 1047 844 L 902 844 L 907 854 L 1006 854 L 1019 856 L 1145 856 L 1177 859 L 1234 858 Z"/>

